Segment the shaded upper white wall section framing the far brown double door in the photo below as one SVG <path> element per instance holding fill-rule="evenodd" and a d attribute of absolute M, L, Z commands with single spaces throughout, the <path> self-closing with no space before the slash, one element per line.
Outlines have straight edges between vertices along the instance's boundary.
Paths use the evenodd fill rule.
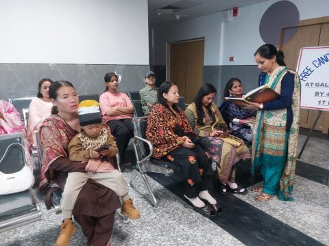
<path fill-rule="evenodd" d="M 166 64 L 167 42 L 205 38 L 204 66 L 219 64 L 221 12 L 154 29 L 154 65 Z"/>

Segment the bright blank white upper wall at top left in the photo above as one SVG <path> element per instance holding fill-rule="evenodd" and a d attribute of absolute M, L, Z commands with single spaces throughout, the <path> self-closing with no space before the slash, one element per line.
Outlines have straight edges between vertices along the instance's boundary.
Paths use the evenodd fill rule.
<path fill-rule="evenodd" d="M 149 64 L 147 0 L 1 0 L 0 63 Z"/>

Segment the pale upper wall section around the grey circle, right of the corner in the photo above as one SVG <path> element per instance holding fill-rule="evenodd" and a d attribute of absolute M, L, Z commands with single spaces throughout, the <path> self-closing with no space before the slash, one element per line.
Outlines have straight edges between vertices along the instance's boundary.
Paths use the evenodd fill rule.
<path fill-rule="evenodd" d="M 300 20 L 329 16 L 328 0 L 290 0 L 300 12 Z M 255 65 L 254 52 L 264 44 L 260 38 L 259 23 L 264 12 L 277 0 L 265 1 L 239 9 L 239 16 L 223 23 L 223 49 L 220 65 Z M 229 57 L 235 56 L 235 61 Z"/>

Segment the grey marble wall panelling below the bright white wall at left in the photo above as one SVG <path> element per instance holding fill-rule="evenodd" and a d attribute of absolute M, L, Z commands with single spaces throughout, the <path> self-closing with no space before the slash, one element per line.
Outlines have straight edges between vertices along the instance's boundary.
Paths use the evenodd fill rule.
<path fill-rule="evenodd" d="M 36 96 L 38 81 L 67 80 L 78 94 L 101 94 L 105 89 L 104 74 L 121 74 L 120 91 L 136 91 L 145 86 L 146 65 L 89 65 L 89 64 L 0 64 L 0 98 Z"/>

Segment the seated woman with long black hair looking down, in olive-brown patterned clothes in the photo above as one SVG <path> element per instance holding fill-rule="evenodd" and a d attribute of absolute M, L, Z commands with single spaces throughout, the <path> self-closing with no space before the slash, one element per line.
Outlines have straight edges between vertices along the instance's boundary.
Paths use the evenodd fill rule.
<path fill-rule="evenodd" d="M 223 120 L 215 102 L 217 90 L 214 85 L 202 85 L 194 102 L 188 105 L 185 113 L 198 141 L 210 152 L 212 160 L 217 163 L 217 178 L 221 182 L 221 193 L 227 189 L 234 193 L 245 195 L 247 189 L 240 187 L 235 182 L 234 165 L 241 159 L 250 158 L 250 152 L 241 139 L 227 138 L 228 126 Z M 228 184 L 228 185 L 227 185 Z"/>

